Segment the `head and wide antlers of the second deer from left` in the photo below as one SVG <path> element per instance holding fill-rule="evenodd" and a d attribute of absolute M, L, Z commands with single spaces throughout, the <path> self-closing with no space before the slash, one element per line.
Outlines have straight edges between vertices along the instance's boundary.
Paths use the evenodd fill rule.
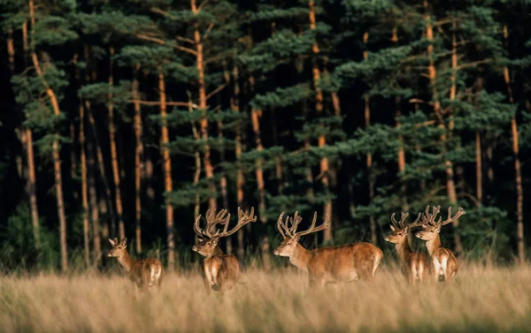
<path fill-rule="evenodd" d="M 250 208 L 250 213 L 243 211 L 238 207 L 238 223 L 233 229 L 228 231 L 228 223 L 230 222 L 230 214 L 227 214 L 227 209 L 221 209 L 218 214 L 216 210 L 207 210 L 205 214 L 206 227 L 201 229 L 199 223 L 201 216 L 197 216 L 196 223 L 194 223 L 194 231 L 196 231 L 199 243 L 192 247 L 193 251 L 205 257 L 212 256 L 218 246 L 219 238 L 227 237 L 240 230 L 243 225 L 256 222 L 257 216 L 254 216 L 254 208 Z M 219 231 L 217 225 L 223 225 L 223 231 Z M 215 231 L 215 232 L 214 232 Z"/>

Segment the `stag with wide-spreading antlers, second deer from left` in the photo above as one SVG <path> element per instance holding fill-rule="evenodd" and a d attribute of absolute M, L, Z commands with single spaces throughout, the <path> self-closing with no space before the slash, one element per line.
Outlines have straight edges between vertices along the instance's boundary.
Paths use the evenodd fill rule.
<path fill-rule="evenodd" d="M 219 291 L 223 293 L 231 290 L 240 280 L 240 263 L 233 254 L 223 254 L 219 248 L 219 238 L 228 237 L 240 230 L 243 225 L 256 222 L 254 208 L 250 208 L 250 213 L 238 208 L 238 223 L 228 231 L 230 214 L 227 209 L 222 209 L 216 214 L 216 210 L 207 210 L 205 214 L 206 227 L 200 227 L 201 215 L 197 216 L 194 223 L 199 243 L 192 247 L 192 250 L 203 255 L 203 281 L 207 292 Z M 223 225 L 223 231 L 217 229 L 217 225 Z M 213 232 L 215 230 L 215 233 Z"/>

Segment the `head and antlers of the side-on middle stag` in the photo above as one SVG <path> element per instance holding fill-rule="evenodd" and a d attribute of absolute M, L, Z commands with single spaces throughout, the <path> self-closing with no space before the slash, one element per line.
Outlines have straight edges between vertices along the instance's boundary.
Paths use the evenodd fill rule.
<path fill-rule="evenodd" d="M 277 221 L 277 229 L 281 233 L 282 243 L 280 246 L 274 249 L 273 254 L 280 255 L 282 257 L 291 257 L 296 249 L 296 245 L 298 244 L 301 236 L 307 235 L 312 232 L 316 231 L 322 231 L 327 229 L 330 226 L 330 221 L 328 220 L 328 215 L 325 218 L 325 222 L 323 222 L 319 226 L 315 226 L 315 223 L 317 222 L 317 212 L 313 214 L 313 221 L 312 225 L 310 226 L 310 229 L 306 231 L 299 231 L 296 232 L 296 228 L 301 221 L 303 221 L 303 218 L 301 216 L 298 216 L 298 212 L 295 212 L 295 216 L 293 218 L 286 216 L 286 221 L 282 221 L 284 217 L 284 213 L 279 216 L 279 219 Z"/>

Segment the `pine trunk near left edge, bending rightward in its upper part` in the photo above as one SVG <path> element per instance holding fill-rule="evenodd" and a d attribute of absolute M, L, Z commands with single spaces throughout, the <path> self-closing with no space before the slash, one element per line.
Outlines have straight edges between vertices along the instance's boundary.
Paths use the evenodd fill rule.
<path fill-rule="evenodd" d="M 31 28 L 32 28 L 32 37 L 35 31 L 35 8 L 33 0 L 29 0 L 29 17 L 31 19 Z M 51 107 L 55 117 L 61 115 L 59 110 L 59 103 L 56 97 L 55 92 L 48 84 L 48 81 L 44 77 L 44 73 L 41 70 L 41 65 L 39 64 L 39 59 L 35 53 L 35 49 L 32 49 L 32 61 L 35 67 L 35 72 L 37 76 L 42 80 L 42 86 L 46 91 L 46 95 L 50 98 Z M 52 142 L 52 156 L 53 156 L 53 169 L 55 175 L 55 192 L 56 199 L 58 204 L 58 218 L 59 218 L 59 239 L 61 244 L 61 269 L 66 271 L 68 269 L 68 253 L 66 247 L 66 216 L 65 216 L 65 202 L 63 200 L 63 180 L 61 174 L 61 156 L 59 155 L 59 140 L 58 136 L 60 135 L 59 131 L 56 133 L 56 137 Z"/>

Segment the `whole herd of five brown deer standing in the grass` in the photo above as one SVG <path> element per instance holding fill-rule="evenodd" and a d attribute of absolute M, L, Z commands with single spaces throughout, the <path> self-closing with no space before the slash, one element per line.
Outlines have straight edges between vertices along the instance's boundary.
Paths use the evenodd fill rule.
<path fill-rule="evenodd" d="M 392 233 L 385 240 L 394 243 L 396 253 L 402 261 L 402 273 L 412 283 L 426 282 L 431 275 L 435 281 L 443 279 L 450 282 L 456 276 L 458 271 L 458 261 L 452 252 L 441 245 L 439 232 L 445 224 L 455 222 L 465 214 L 463 208 L 458 209 L 455 216 L 451 216 L 451 208 L 448 208 L 448 218 L 442 221 L 439 217 L 441 206 L 434 207 L 429 212 L 427 206 L 424 213 L 419 213 L 417 219 L 412 223 L 406 223 L 405 220 L 409 214 L 402 213 L 400 221 L 396 222 L 395 214 L 391 216 Z M 204 256 L 203 261 L 203 279 L 207 291 L 228 291 L 232 289 L 240 279 L 240 265 L 235 255 L 223 254 L 219 248 L 219 238 L 228 237 L 242 228 L 243 225 L 256 222 L 254 208 L 250 213 L 238 208 L 238 223 L 230 231 L 228 224 L 230 214 L 223 209 L 216 214 L 215 210 L 206 212 L 206 226 L 200 227 L 201 216 L 197 216 L 194 223 L 199 243 L 192 247 L 198 254 Z M 315 231 L 322 231 L 330 226 L 328 216 L 319 226 L 317 222 L 317 213 L 313 215 L 313 221 L 310 228 L 306 231 L 296 231 L 298 224 L 301 223 L 302 217 L 286 216 L 284 213 L 279 216 L 277 229 L 280 232 L 283 241 L 273 254 L 289 257 L 291 262 L 298 269 L 308 273 L 311 286 L 322 286 L 324 284 L 346 283 L 358 281 L 359 279 L 373 279 L 376 269 L 380 264 L 383 253 L 381 249 L 372 244 L 360 242 L 346 246 L 323 247 L 312 251 L 306 250 L 299 244 L 301 236 Z M 219 230 L 219 226 L 223 230 Z M 431 257 L 431 264 L 426 254 L 412 252 L 408 242 L 409 230 L 413 227 L 421 226 L 422 230 L 415 233 L 417 238 L 426 241 L 427 252 Z M 162 283 L 162 263 L 155 258 L 143 260 L 133 260 L 127 254 L 127 238 L 119 241 L 109 239 L 112 249 L 109 257 L 117 257 L 121 266 L 127 270 L 129 278 L 136 287 L 147 289 L 151 286 L 160 287 Z"/>

